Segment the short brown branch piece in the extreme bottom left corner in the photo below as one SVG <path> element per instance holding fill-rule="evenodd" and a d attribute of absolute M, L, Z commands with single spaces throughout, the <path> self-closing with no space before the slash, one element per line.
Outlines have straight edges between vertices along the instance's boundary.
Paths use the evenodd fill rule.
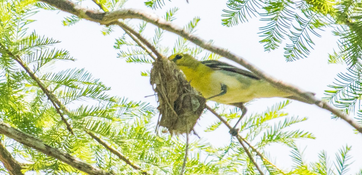
<path fill-rule="evenodd" d="M 9 171 L 10 175 L 24 175 L 21 172 L 21 163 L 15 160 L 5 146 L 0 142 L 0 161 L 3 162 L 4 167 Z"/>

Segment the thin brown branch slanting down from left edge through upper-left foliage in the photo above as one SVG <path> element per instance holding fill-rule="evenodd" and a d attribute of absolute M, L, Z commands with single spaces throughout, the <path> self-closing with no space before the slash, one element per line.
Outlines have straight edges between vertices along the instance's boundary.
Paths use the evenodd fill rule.
<path fill-rule="evenodd" d="M 13 54 L 8 48 L 6 48 L 3 44 L 0 43 L 0 47 L 3 48 L 5 51 L 7 51 L 7 54 L 12 57 L 20 66 L 25 69 L 26 73 L 30 76 L 31 79 L 35 81 L 35 83 L 38 84 L 39 88 L 42 89 L 42 91 L 45 93 L 45 95 L 48 97 L 48 99 L 53 104 L 54 108 L 56 109 L 56 112 L 60 115 L 60 118 L 62 118 L 62 121 L 66 124 L 67 129 L 71 134 L 74 135 L 74 132 L 72 130 L 71 124 L 67 121 L 67 119 L 64 117 L 63 112 L 69 113 L 66 108 L 62 105 L 62 103 L 55 97 L 55 95 L 49 91 L 49 89 L 46 88 L 45 84 L 33 73 L 33 71 L 30 70 L 28 66 L 25 65 L 24 61 L 20 58 L 20 56 Z M 62 111 L 60 111 L 62 110 Z"/>

